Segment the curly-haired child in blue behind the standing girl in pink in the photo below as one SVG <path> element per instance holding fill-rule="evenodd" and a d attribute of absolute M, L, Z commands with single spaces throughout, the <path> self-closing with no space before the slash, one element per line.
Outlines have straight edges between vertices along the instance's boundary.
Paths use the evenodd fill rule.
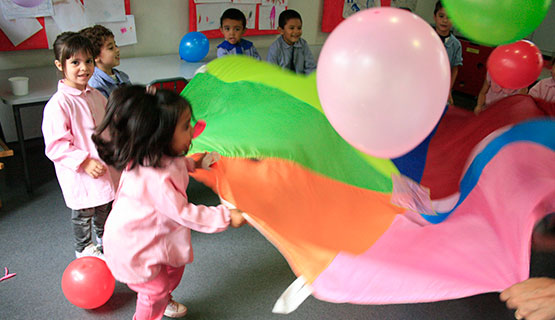
<path fill-rule="evenodd" d="M 112 90 L 121 85 L 131 84 L 129 76 L 115 67 L 119 66 L 119 48 L 110 29 L 95 25 L 79 31 L 91 40 L 95 49 L 94 74 L 89 80 L 89 85 L 96 88 L 108 98 Z"/>

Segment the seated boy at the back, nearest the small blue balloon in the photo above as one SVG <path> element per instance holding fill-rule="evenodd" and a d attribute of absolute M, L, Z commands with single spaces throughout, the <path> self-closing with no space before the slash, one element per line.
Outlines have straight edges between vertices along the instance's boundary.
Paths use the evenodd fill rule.
<path fill-rule="evenodd" d="M 220 17 L 220 31 L 225 40 L 218 45 L 218 58 L 228 54 L 244 54 L 260 60 L 260 55 L 253 43 L 242 39 L 247 31 L 247 18 L 239 9 L 230 8 Z"/>

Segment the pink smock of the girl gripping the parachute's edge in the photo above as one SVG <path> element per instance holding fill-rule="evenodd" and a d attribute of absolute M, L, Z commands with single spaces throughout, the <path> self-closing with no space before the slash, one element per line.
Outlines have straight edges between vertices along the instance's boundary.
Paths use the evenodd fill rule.
<path fill-rule="evenodd" d="M 187 200 L 194 161 L 164 158 L 163 168 L 124 170 L 104 229 L 104 256 L 116 279 L 143 283 L 161 265 L 193 261 L 191 229 L 214 233 L 227 229 L 230 212 L 223 206 L 194 205 Z"/>

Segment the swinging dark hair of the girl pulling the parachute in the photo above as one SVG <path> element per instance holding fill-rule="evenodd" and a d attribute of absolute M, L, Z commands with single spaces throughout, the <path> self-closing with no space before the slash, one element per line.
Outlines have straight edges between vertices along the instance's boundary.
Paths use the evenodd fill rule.
<path fill-rule="evenodd" d="M 161 167 L 163 156 L 175 157 L 171 142 L 181 114 L 192 109 L 177 93 L 144 86 L 116 88 L 108 99 L 106 116 L 92 135 L 100 158 L 116 169 L 136 165 Z"/>

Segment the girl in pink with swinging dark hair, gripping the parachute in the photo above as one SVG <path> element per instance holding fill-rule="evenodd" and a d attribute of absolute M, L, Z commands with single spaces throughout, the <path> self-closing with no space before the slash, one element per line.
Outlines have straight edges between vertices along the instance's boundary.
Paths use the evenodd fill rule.
<path fill-rule="evenodd" d="M 188 173 L 204 158 L 184 156 L 193 136 L 191 116 L 187 100 L 172 91 L 121 87 L 110 95 L 106 118 L 93 135 L 101 158 L 124 169 L 104 252 L 114 277 L 138 293 L 133 319 L 184 316 L 187 308 L 171 292 L 193 260 L 191 229 L 214 233 L 245 223 L 237 209 L 187 201 Z"/>

